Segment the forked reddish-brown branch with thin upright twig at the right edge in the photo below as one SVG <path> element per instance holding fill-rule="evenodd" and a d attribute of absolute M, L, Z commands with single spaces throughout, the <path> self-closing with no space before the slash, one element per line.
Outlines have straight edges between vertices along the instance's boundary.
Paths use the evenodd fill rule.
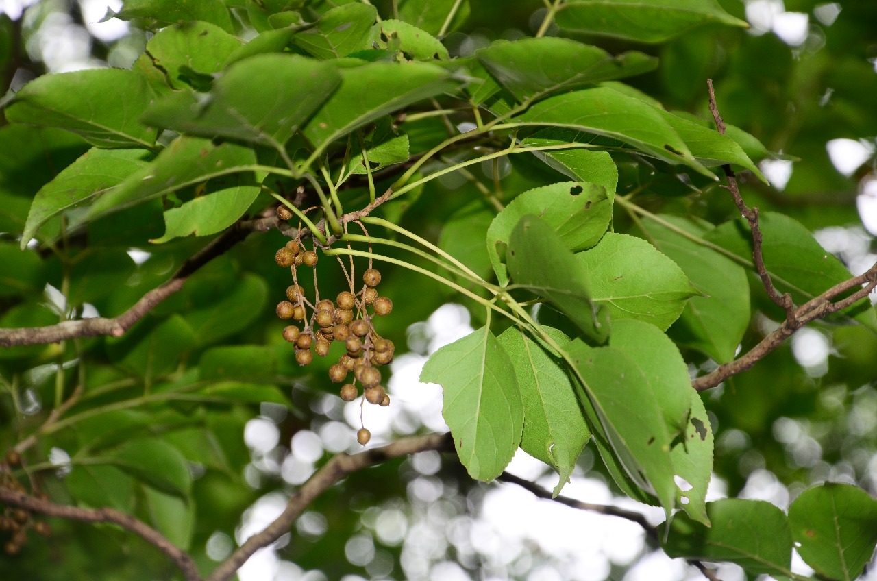
<path fill-rule="evenodd" d="M 716 94 L 713 91 L 712 81 L 707 81 L 707 87 L 709 88 L 709 111 L 712 111 L 718 132 L 724 134 L 724 121 L 722 120 L 722 116 L 719 114 L 716 106 Z M 697 377 L 693 380 L 691 384 L 697 391 L 709 390 L 710 388 L 721 384 L 728 377 L 737 375 L 746 369 L 752 368 L 756 362 L 759 362 L 760 359 L 775 348 L 780 347 L 784 341 L 802 326 L 853 305 L 862 298 L 866 298 L 874 288 L 877 287 L 877 263 L 874 263 L 874 265 L 864 274 L 853 276 L 842 283 L 835 284 L 828 291 L 825 291 L 816 298 L 811 298 L 803 305 L 795 308 L 791 295 L 789 295 L 788 292 L 780 294 L 780 291 L 777 291 L 776 287 L 774 287 L 774 282 L 771 280 L 770 274 L 767 272 L 764 257 L 761 253 L 762 237 L 759 228 L 759 209 L 749 208 L 744 203 L 743 197 L 740 196 L 737 179 L 734 176 L 731 166 L 725 164 L 722 166 L 722 169 L 724 169 L 724 174 L 728 178 L 727 189 L 731 191 L 734 203 L 737 204 L 740 213 L 743 214 L 752 229 L 752 262 L 755 263 L 755 270 L 758 272 L 759 278 L 761 278 L 761 283 L 765 287 L 767 296 L 770 297 L 774 303 L 782 307 L 786 312 L 786 319 L 773 333 L 768 334 L 764 339 L 759 341 L 758 345 L 750 349 L 742 357 L 739 357 L 732 362 L 719 365 L 717 369 L 714 369 L 707 375 Z M 831 302 L 833 299 L 838 298 L 838 296 L 847 291 L 851 291 L 857 286 L 861 286 L 858 291 L 853 292 L 848 297 L 842 298 L 837 302 Z"/>

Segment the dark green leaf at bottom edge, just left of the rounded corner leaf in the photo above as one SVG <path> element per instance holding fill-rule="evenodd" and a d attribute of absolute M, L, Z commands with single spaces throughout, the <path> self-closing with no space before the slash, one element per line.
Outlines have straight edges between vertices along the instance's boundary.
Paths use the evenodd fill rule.
<path fill-rule="evenodd" d="M 750 575 L 793 577 L 792 534 L 786 515 L 764 500 L 722 499 L 707 503 L 711 527 L 677 515 L 664 550 L 667 555 L 729 561 Z"/>

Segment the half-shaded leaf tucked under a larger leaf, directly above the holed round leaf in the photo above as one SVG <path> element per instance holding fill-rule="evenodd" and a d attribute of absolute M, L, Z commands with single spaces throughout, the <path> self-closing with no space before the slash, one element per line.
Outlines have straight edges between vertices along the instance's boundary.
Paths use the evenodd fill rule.
<path fill-rule="evenodd" d="M 593 137 L 593 136 L 591 136 Z M 587 143 L 585 133 L 573 129 L 539 129 L 521 140 L 524 147 L 545 147 L 565 143 Z M 585 148 L 534 151 L 533 155 L 549 167 L 576 181 L 596 183 L 614 192 L 618 185 L 618 167 L 605 151 Z"/>

